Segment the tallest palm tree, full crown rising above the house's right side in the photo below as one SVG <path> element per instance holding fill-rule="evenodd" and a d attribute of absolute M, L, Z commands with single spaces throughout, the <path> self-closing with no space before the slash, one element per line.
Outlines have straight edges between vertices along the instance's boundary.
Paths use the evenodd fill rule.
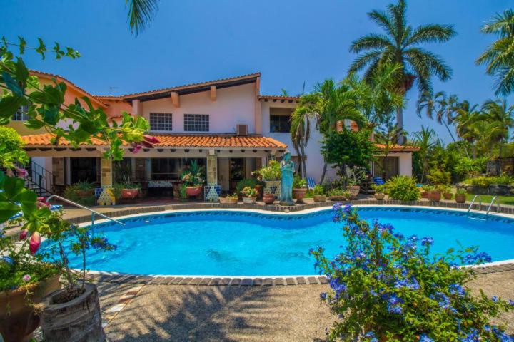
<path fill-rule="evenodd" d="M 402 77 L 397 87 L 406 93 L 417 83 L 420 91 L 430 91 L 431 78 L 441 81 L 450 79 L 452 71 L 440 56 L 421 48 L 423 43 L 444 43 L 455 36 L 451 25 L 426 24 L 413 28 L 405 16 L 405 0 L 389 4 L 385 11 L 373 10 L 369 19 L 381 26 L 385 34 L 370 33 L 351 44 L 350 51 L 362 53 L 350 66 L 350 72 L 366 69 L 364 76 L 371 78 L 373 72 L 385 63 L 402 66 Z M 403 108 L 396 110 L 398 126 L 403 127 Z M 403 138 L 401 138 L 403 140 Z"/>

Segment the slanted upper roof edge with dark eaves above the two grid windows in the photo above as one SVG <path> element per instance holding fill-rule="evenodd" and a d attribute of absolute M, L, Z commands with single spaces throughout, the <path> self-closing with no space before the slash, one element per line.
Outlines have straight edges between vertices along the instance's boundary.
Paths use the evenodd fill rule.
<path fill-rule="evenodd" d="M 176 91 L 179 95 L 185 95 L 187 93 L 198 93 L 200 91 L 206 91 L 203 87 L 219 86 L 219 88 L 226 88 L 230 86 L 238 86 L 245 83 L 256 82 L 257 78 L 261 77 L 261 73 L 249 73 L 247 75 L 233 76 L 230 78 L 220 78 L 213 81 L 205 81 L 199 83 L 190 83 L 183 86 L 174 86 L 171 88 L 162 88 L 157 90 L 144 91 L 141 93 L 131 93 L 126 95 L 112 96 L 112 95 L 96 95 L 97 98 L 105 100 L 152 100 L 153 98 L 159 98 L 158 95 L 165 95 L 162 97 L 168 97 L 168 93 Z M 246 81 L 246 82 L 245 82 Z M 243 83 L 238 83 L 243 82 Z M 235 84 L 234 84 L 235 83 Z M 182 91 L 181 91 L 182 90 Z M 188 91 L 191 90 L 191 91 Z"/>

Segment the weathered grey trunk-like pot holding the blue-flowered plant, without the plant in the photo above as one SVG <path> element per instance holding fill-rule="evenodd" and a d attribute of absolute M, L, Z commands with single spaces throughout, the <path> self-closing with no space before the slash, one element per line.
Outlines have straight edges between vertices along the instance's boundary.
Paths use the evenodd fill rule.
<path fill-rule="evenodd" d="M 95 284 L 86 284 L 84 289 L 84 294 L 64 303 L 58 302 L 63 289 L 44 298 L 39 316 L 46 342 L 105 341 L 98 289 Z"/>

